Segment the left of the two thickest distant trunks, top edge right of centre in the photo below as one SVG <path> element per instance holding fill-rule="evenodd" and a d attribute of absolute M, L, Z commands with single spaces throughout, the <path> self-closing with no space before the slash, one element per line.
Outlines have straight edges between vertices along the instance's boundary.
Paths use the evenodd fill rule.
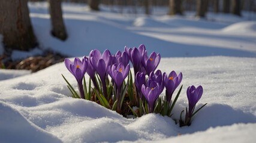
<path fill-rule="evenodd" d="M 169 0 L 169 15 L 183 14 L 182 0 Z"/>

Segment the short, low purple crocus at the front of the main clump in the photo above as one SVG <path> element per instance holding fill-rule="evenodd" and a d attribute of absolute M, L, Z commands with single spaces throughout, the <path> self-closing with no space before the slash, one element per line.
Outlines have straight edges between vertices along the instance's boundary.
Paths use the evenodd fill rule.
<path fill-rule="evenodd" d="M 149 107 L 149 113 L 153 112 L 155 101 L 161 94 L 162 87 L 159 83 L 155 81 L 150 82 L 149 86 L 142 85 L 141 92 L 147 100 L 147 105 Z"/>

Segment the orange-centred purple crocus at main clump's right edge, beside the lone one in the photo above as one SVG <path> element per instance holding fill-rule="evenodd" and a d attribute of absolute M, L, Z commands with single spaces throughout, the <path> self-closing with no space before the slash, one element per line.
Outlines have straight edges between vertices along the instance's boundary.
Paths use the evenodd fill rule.
<path fill-rule="evenodd" d="M 165 95 L 168 102 L 171 102 L 171 97 L 173 96 L 173 92 L 179 86 L 181 80 L 182 80 L 182 73 L 177 76 L 175 71 L 171 71 L 171 73 L 167 76 L 166 73 L 163 75 L 164 79 L 164 86 L 165 86 Z"/>

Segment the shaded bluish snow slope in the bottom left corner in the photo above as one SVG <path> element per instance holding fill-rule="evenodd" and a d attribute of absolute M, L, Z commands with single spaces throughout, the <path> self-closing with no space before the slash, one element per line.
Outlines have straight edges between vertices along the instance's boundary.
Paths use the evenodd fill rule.
<path fill-rule="evenodd" d="M 2 101 L 0 101 L 0 114 L 0 142 L 61 142 Z"/>

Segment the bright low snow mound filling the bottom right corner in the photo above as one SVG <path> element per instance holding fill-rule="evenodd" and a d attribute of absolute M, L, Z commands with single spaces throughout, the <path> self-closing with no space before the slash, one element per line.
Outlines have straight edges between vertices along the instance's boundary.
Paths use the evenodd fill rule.
<path fill-rule="evenodd" d="M 162 140 L 161 142 L 254 142 L 254 129 L 256 124 L 234 124 L 232 126 L 223 126 L 210 128 L 205 132 L 196 132 L 192 135 L 179 135 L 171 139 Z M 159 142 L 159 141 L 155 141 Z"/>

